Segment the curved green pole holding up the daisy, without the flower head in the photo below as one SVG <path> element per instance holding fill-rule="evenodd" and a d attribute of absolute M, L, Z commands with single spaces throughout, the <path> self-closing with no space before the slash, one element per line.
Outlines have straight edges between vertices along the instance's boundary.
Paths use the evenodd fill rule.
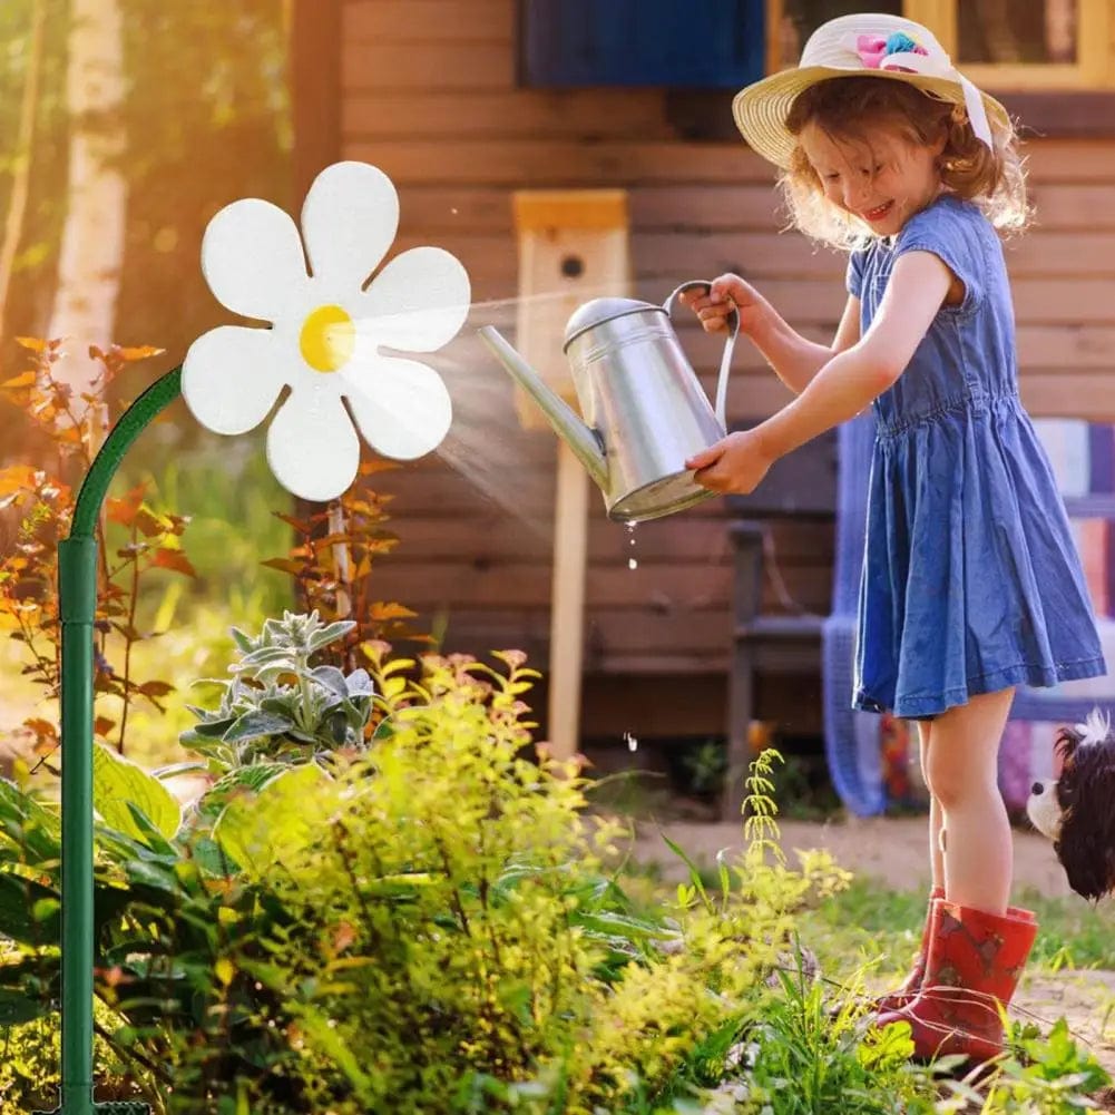
<path fill-rule="evenodd" d="M 93 1102 L 93 624 L 97 614 L 96 527 L 108 485 L 146 427 L 182 394 L 181 366 L 120 416 L 81 484 L 69 537 L 58 545 L 62 733 L 62 1088 L 54 1115 L 144 1115 L 144 1103 Z"/>

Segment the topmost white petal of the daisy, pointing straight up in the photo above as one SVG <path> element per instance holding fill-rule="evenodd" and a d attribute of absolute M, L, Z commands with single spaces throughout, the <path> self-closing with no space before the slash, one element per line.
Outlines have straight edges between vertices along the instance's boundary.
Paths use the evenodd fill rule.
<path fill-rule="evenodd" d="M 382 171 L 367 163 L 327 166 L 302 205 L 310 271 L 330 291 L 359 290 L 387 254 L 398 226 L 399 196 Z"/>

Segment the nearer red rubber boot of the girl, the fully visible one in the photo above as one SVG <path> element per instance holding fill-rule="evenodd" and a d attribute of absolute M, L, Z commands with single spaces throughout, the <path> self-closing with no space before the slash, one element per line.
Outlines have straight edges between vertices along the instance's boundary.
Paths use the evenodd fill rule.
<path fill-rule="evenodd" d="M 975 1061 L 997 1057 L 1002 1053 L 999 1009 L 1015 993 L 1037 931 L 1028 910 L 999 917 L 937 902 L 921 992 L 881 1015 L 878 1025 L 909 1022 L 918 1060 L 951 1054 Z"/>

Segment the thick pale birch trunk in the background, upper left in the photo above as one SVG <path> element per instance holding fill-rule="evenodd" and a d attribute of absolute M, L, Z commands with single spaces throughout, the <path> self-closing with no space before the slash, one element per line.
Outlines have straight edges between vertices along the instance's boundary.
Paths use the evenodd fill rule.
<path fill-rule="evenodd" d="M 119 0 L 71 0 L 70 13 L 69 182 L 49 334 L 66 338 L 58 375 L 81 390 L 98 370 L 89 346 L 114 339 L 124 262 L 124 43 Z"/>

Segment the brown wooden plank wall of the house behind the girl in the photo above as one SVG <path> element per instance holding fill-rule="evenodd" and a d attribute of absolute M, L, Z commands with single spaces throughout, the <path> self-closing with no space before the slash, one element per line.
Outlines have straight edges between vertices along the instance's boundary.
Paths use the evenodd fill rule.
<path fill-rule="evenodd" d="M 554 439 L 518 427 L 511 381 L 474 338 L 483 323 L 512 329 L 513 191 L 622 187 L 639 297 L 660 301 L 682 280 L 735 270 L 814 339 L 835 328 L 844 260 L 779 232 L 769 167 L 740 143 L 679 138 L 662 90 L 520 87 L 514 0 L 330 2 L 341 29 L 337 155 L 390 175 L 401 203 L 394 250 L 453 252 L 476 303 L 462 336 L 432 358 L 457 415 L 443 452 L 377 477 L 396 496 L 401 539 L 377 566 L 379 591 L 439 617 L 450 648 L 523 646 L 544 663 Z M 1115 143 L 1038 139 L 1027 153 L 1037 220 L 1008 245 L 1022 394 L 1036 414 L 1115 420 Z M 680 332 L 711 390 L 720 343 L 688 320 Z M 786 399 L 741 343 L 731 416 L 766 415 Z M 788 597 L 826 611 L 832 531 L 788 524 L 772 545 L 783 583 L 766 586 L 768 607 Z M 695 709 L 696 730 L 717 730 L 724 702 L 706 698 L 723 694 L 730 580 L 720 501 L 633 535 L 594 501 L 586 670 L 700 679 L 711 707 Z M 586 700 L 599 692 L 588 688 Z"/>

